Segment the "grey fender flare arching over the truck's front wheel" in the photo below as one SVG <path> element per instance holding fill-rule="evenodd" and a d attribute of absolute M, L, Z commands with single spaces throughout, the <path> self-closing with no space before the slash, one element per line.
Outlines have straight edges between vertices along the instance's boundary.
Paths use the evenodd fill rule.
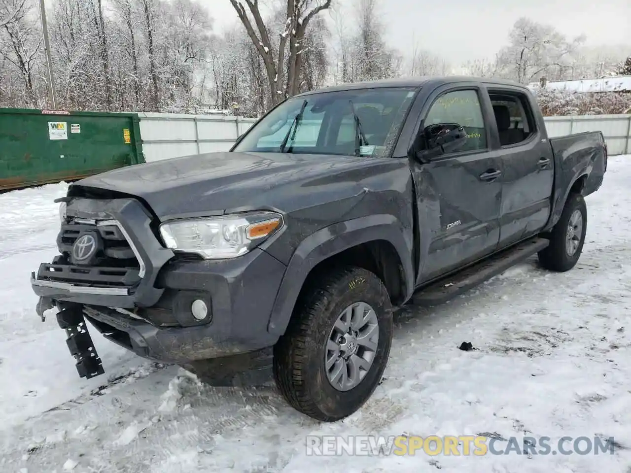
<path fill-rule="evenodd" d="M 409 238 L 406 236 L 409 235 Z M 276 336 L 285 333 L 294 305 L 309 272 L 320 262 L 340 252 L 375 240 L 391 243 L 401 259 L 405 277 L 406 299 L 414 288 L 412 266 L 412 231 L 389 214 L 370 215 L 322 228 L 298 245 L 289 261 L 285 276 L 276 294 L 268 323 L 268 332 Z"/>

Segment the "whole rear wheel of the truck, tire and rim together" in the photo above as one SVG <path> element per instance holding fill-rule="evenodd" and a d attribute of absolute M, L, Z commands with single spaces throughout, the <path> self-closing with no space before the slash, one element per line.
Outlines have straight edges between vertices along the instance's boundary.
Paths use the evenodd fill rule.
<path fill-rule="evenodd" d="M 569 271 L 581 257 L 587 232 L 587 206 L 581 194 L 570 194 L 557 225 L 550 232 L 550 245 L 539 252 L 539 262 L 551 271 Z"/>

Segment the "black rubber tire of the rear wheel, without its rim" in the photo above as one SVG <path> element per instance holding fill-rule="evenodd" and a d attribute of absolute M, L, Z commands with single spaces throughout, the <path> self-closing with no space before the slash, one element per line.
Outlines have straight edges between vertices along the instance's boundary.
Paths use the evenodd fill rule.
<path fill-rule="evenodd" d="M 572 214 L 574 214 L 575 211 L 581 212 L 582 228 L 579 246 L 574 254 L 570 255 L 566 250 L 565 242 L 569 231 L 570 218 L 572 218 Z M 538 254 L 541 266 L 550 271 L 558 272 L 565 272 L 572 269 L 581 257 L 586 232 L 587 206 L 585 205 L 585 200 L 581 194 L 570 194 L 569 197 L 567 197 L 567 202 L 565 202 L 565 207 L 563 207 L 561 217 L 550 231 L 550 235 L 548 235 L 550 245 L 541 250 Z"/>

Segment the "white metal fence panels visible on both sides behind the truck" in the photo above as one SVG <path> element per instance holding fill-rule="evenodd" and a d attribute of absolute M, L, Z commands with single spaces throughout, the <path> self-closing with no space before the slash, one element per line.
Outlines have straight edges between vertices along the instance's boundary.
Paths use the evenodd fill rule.
<path fill-rule="evenodd" d="M 223 115 L 138 114 L 146 161 L 227 151 L 255 119 Z M 602 131 L 609 154 L 631 153 L 631 115 L 546 117 L 550 137 Z"/>

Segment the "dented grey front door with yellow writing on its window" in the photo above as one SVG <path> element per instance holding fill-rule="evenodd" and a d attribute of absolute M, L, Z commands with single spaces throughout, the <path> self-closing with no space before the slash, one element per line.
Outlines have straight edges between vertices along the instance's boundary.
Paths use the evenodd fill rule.
<path fill-rule="evenodd" d="M 418 284 L 497 249 L 502 199 L 502 160 L 490 149 L 486 91 L 476 84 L 444 86 L 427 103 L 420 131 L 457 123 L 467 132 L 467 141 L 429 163 L 413 161 L 422 247 Z"/>

